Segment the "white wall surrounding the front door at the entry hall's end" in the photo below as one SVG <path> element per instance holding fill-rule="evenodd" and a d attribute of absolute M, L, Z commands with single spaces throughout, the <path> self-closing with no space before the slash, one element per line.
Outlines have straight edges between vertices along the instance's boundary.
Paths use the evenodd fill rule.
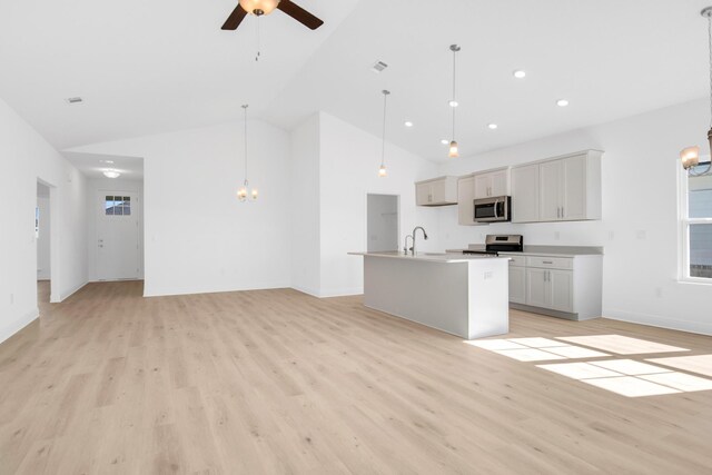
<path fill-rule="evenodd" d="M 138 196 L 138 204 L 131 204 L 131 209 L 138 214 L 139 278 L 144 278 L 144 181 L 121 178 L 92 178 L 87 182 L 87 271 L 89 281 L 99 279 L 97 271 L 99 257 L 97 224 L 99 208 L 103 205 L 103 201 L 99 202 L 99 199 L 103 196 L 103 191 L 132 191 Z"/>

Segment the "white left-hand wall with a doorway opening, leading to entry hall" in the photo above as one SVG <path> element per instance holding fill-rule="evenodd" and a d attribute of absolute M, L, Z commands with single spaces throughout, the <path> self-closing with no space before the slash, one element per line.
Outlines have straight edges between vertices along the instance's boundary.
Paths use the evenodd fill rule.
<path fill-rule="evenodd" d="M 0 99 L 0 342 L 38 316 L 37 181 L 50 189 L 52 300 L 87 281 L 86 179 Z"/>

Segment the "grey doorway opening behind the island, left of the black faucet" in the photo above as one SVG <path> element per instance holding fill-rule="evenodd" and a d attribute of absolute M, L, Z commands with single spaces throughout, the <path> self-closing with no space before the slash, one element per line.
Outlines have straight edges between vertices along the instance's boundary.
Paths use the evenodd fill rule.
<path fill-rule="evenodd" d="M 366 198 L 366 249 L 368 253 L 398 250 L 398 195 L 373 195 Z"/>

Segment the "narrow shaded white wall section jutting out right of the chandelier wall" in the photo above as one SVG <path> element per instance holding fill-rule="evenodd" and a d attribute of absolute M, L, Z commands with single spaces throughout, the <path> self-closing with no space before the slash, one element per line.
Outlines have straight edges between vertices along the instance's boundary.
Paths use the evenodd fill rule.
<path fill-rule="evenodd" d="M 319 295 L 319 115 L 291 132 L 289 245 L 291 287 Z"/>

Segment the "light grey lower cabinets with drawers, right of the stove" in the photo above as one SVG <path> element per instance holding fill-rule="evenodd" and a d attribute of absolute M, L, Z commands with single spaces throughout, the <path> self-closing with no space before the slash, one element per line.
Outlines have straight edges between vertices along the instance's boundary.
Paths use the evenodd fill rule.
<path fill-rule="evenodd" d="M 602 256 L 524 256 L 510 261 L 510 306 L 572 320 L 601 316 Z"/>

